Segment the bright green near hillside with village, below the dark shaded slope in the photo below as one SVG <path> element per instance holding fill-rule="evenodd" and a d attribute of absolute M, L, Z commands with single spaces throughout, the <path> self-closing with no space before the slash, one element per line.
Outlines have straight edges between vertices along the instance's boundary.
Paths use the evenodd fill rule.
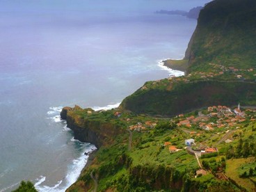
<path fill-rule="evenodd" d="M 112 129 L 121 126 L 118 135 L 113 135 L 109 127 L 91 128 L 100 130 L 105 138 L 112 136 L 111 143 L 91 156 L 90 166 L 67 191 L 254 191 L 256 110 L 241 110 L 244 113 L 240 118 L 227 106 L 212 106 L 175 118 L 136 115 L 120 109 L 68 112 L 73 117 L 76 113 L 75 119 L 82 124 L 103 119 Z M 217 111 L 221 114 L 214 115 Z M 184 121 L 188 124 L 182 125 Z M 217 147 L 218 151 L 202 154 L 198 163 L 186 149 L 184 141 L 188 138 L 194 139 L 191 148 L 196 152 L 207 147 Z M 172 152 L 171 147 L 175 149 Z M 197 173 L 200 166 L 205 170 L 203 175 Z"/>

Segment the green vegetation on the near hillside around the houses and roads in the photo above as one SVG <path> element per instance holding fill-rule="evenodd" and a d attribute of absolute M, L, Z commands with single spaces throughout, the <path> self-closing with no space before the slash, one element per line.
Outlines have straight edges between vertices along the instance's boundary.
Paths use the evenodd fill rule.
<path fill-rule="evenodd" d="M 202 110 L 203 113 L 206 113 L 204 111 Z M 254 118 L 255 112 L 246 112 L 247 118 Z M 237 170 L 235 170 L 237 177 L 227 179 L 229 176 L 225 176 L 226 172 L 230 173 L 230 166 L 233 162 L 225 158 L 230 154 L 230 144 L 218 144 L 218 141 L 223 138 L 220 131 L 222 130 L 225 134 L 227 128 L 207 131 L 200 129 L 198 125 L 177 127 L 179 120 L 190 118 L 198 111 L 184 114 L 182 118 L 136 115 L 120 109 L 112 109 L 104 113 L 94 111 L 93 115 L 88 115 L 86 110 L 73 113 L 79 113 L 84 117 L 83 120 L 90 120 L 90 117 L 99 119 L 99 117 L 102 118 L 102 115 L 108 117 L 113 115 L 106 121 L 111 121 L 112 126 L 123 125 L 122 129 L 129 129 L 129 131 L 115 136 L 111 145 L 102 145 L 97 151 L 93 164 L 83 170 L 79 181 L 71 186 L 69 191 L 90 191 L 96 188 L 97 191 L 170 191 L 170 189 L 172 191 L 188 189 L 191 191 L 240 191 L 246 186 L 253 187 L 253 182 L 250 182 L 250 179 L 255 178 L 256 165 L 253 163 L 255 160 L 237 166 Z M 211 122 L 215 119 L 210 118 L 208 121 Z M 243 121 L 239 124 L 241 129 L 230 127 L 229 129 L 234 129 L 230 135 L 230 138 L 234 139 L 232 146 L 235 149 L 243 146 L 249 138 L 252 138 L 255 126 L 256 123 L 253 121 Z M 139 127 L 141 129 L 138 129 Z M 200 135 L 191 135 L 191 132 L 199 132 Z M 200 169 L 198 162 L 184 149 L 184 140 L 191 137 L 198 144 L 216 145 L 219 151 L 202 155 L 200 162 L 208 174 L 199 175 L 197 178 L 195 178 L 195 171 Z M 249 145 L 253 145 L 253 142 L 252 138 Z M 170 153 L 170 145 L 175 145 L 179 150 Z M 246 158 L 255 159 L 254 149 L 249 150 Z M 243 150 L 240 155 L 243 157 Z M 234 158 L 240 158 L 240 156 L 234 155 L 232 159 Z M 244 182 L 245 179 L 247 182 Z M 240 181 L 243 182 L 240 183 Z"/>

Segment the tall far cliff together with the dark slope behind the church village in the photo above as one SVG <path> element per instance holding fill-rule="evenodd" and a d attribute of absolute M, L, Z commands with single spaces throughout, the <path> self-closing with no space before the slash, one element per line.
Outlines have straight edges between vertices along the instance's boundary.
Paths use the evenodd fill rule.
<path fill-rule="evenodd" d="M 209 105 L 256 104 L 255 49 L 256 1 L 211 1 L 200 12 L 184 60 L 165 61 L 186 70 L 186 77 L 145 83 L 121 107 L 177 115 Z"/>

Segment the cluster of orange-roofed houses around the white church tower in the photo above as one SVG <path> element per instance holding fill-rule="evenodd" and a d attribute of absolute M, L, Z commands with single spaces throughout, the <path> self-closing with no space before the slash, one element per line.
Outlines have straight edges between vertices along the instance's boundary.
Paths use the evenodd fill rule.
<path fill-rule="evenodd" d="M 184 115 L 180 114 L 178 118 L 181 118 L 181 120 L 177 123 L 177 126 L 191 127 L 192 125 L 198 125 L 201 129 L 213 130 L 221 127 L 234 127 L 246 121 L 246 113 L 245 111 L 241 111 L 240 104 L 234 110 L 231 110 L 227 106 L 209 106 L 207 113 L 207 115 L 200 113 L 197 118 L 191 115 L 185 119 Z M 211 118 L 217 119 L 213 120 L 214 122 L 209 122 Z"/>

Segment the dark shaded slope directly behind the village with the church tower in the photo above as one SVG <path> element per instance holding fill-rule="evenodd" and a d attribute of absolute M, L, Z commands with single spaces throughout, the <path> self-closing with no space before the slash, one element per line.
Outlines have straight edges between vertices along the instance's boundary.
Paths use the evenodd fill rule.
<path fill-rule="evenodd" d="M 175 116 L 179 113 L 213 105 L 256 104 L 256 83 L 198 81 L 177 83 L 172 90 L 152 88 L 137 90 L 125 98 L 124 109 L 135 113 Z"/>

